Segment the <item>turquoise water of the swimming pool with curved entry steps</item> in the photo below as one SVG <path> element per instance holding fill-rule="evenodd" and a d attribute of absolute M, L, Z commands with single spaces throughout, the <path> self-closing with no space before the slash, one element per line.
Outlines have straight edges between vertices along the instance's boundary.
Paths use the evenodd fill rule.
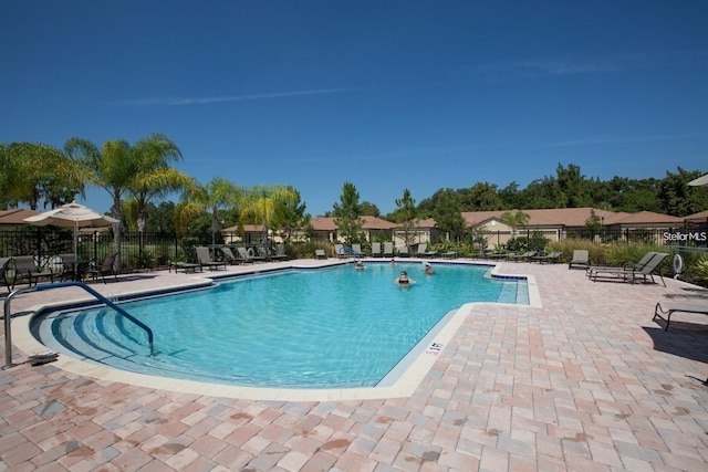
<path fill-rule="evenodd" d="M 407 270 L 415 284 L 393 281 Z M 50 313 L 32 331 L 48 347 L 100 365 L 199 381 L 275 388 L 378 385 L 447 314 L 469 302 L 528 303 L 523 279 L 489 266 L 368 263 L 225 280 L 200 292 L 122 306 L 145 334 L 106 308 Z"/>

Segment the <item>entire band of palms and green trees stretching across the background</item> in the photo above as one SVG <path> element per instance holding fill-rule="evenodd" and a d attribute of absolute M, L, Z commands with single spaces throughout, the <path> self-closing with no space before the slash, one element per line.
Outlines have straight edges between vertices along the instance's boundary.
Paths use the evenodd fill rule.
<path fill-rule="evenodd" d="M 134 144 L 108 140 L 97 146 L 83 138 L 69 139 L 63 149 L 38 143 L 0 143 L 0 209 L 27 203 L 33 210 L 54 208 L 84 195 L 87 186 L 103 188 L 112 198 L 110 213 L 129 231 L 176 234 L 210 231 L 256 223 L 283 231 L 308 227 L 310 214 L 300 192 L 291 186 L 243 188 L 227 178 L 197 182 L 175 169 L 181 160 L 177 145 L 167 136 L 152 134 Z M 465 211 L 527 210 L 594 207 L 612 211 L 642 210 L 686 217 L 708 208 L 708 189 L 687 183 L 701 171 L 677 168 L 663 179 L 611 180 L 587 178 L 580 166 L 558 165 L 555 175 L 544 176 L 525 188 L 512 181 L 500 188 L 487 181 L 468 188 L 441 188 L 416 204 L 408 189 L 396 199 L 396 210 L 382 216 L 376 204 L 360 201 L 352 182 L 344 182 L 340 202 L 331 212 L 345 234 L 356 234 L 358 217 L 375 216 L 404 229 L 416 220 L 434 218 L 439 227 L 462 232 Z M 180 193 L 178 203 L 166 201 Z M 116 248 L 119 231 L 116 232 Z"/>

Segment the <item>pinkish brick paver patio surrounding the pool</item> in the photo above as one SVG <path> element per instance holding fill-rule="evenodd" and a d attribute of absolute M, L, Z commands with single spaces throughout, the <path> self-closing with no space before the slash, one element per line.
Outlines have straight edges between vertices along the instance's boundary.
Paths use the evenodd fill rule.
<path fill-rule="evenodd" d="M 593 283 L 563 264 L 501 272 L 534 275 L 542 308 L 477 305 L 405 398 L 246 400 L 52 364 L 1 370 L 0 471 L 708 470 L 708 317 L 676 315 L 669 332 L 652 319 L 657 301 L 708 303 L 707 291 Z M 92 285 L 114 295 L 199 275 Z"/>

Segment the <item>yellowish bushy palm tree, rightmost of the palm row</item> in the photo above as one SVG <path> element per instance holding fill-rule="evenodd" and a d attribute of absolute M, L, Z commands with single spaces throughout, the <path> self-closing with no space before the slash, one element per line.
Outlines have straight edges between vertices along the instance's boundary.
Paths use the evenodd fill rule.
<path fill-rule="evenodd" d="M 263 229 L 263 243 L 268 248 L 269 229 L 282 224 L 287 218 L 287 209 L 299 200 L 298 191 L 289 186 L 253 187 L 241 202 L 239 231 L 243 233 L 243 221 L 259 222 Z"/>

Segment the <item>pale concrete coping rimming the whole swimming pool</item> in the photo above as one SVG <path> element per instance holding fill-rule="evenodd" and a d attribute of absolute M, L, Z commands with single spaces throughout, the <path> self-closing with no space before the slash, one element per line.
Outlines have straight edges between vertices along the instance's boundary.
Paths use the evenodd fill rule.
<path fill-rule="evenodd" d="M 406 259 L 405 261 L 399 261 L 400 263 L 415 263 L 420 262 L 423 260 L 418 260 L 416 258 Z M 448 261 L 448 260 L 426 260 L 431 263 L 437 264 L 459 264 L 459 265 L 483 265 L 489 266 L 491 269 L 492 276 L 496 277 L 509 277 L 509 279 L 524 279 L 527 281 L 528 293 L 529 293 L 529 305 L 516 305 L 523 308 L 541 308 L 541 297 L 539 294 L 539 290 L 535 283 L 535 277 L 533 275 L 523 275 L 523 274 L 506 274 L 499 272 L 499 264 L 493 263 L 480 263 L 476 261 Z M 212 280 L 218 280 L 225 276 L 233 276 L 233 275 L 249 275 L 253 273 L 263 273 L 270 271 L 278 270 L 287 270 L 287 269 L 322 269 L 329 268 L 333 265 L 340 265 L 347 262 L 353 261 L 341 261 L 341 260 L 330 260 L 330 261 L 320 261 L 316 264 L 312 264 L 311 261 L 288 261 L 281 262 L 278 264 L 270 264 L 269 266 L 248 266 L 238 271 L 229 271 L 230 274 L 225 274 L 223 272 L 209 272 L 201 273 L 191 276 L 191 281 L 183 284 L 178 287 L 173 286 L 164 287 L 160 292 L 181 292 L 185 290 L 196 290 L 200 287 L 207 286 Z M 385 261 L 372 259 L 368 262 L 375 263 L 385 263 Z M 235 268 L 239 269 L 239 268 Z M 186 275 L 186 274 L 185 274 Z M 190 274 L 191 275 L 191 274 Z M 118 283 L 119 285 L 119 283 Z M 128 291 L 122 294 L 114 294 L 114 297 L 126 297 L 126 296 L 139 296 L 139 295 L 149 295 L 154 294 L 155 289 L 152 290 L 135 290 Z M 28 312 L 37 313 L 41 310 L 53 308 L 56 306 L 65 306 L 67 304 L 82 303 L 88 297 L 79 297 L 72 300 L 65 300 L 59 303 L 52 304 L 38 304 L 31 306 Z M 398 398 L 398 397 L 409 397 L 414 394 L 414 391 L 418 388 L 425 376 L 428 374 L 430 368 L 434 366 L 438 354 L 440 354 L 445 346 L 449 343 L 449 340 L 455 336 L 459 327 L 462 325 L 464 321 L 471 316 L 475 308 L 479 305 L 487 305 L 491 302 L 481 302 L 481 303 L 469 303 L 459 307 L 455 314 L 445 323 L 444 326 L 439 327 L 434 336 L 426 336 L 424 339 L 416 346 L 414 346 L 410 350 L 414 355 L 405 356 L 398 365 L 394 368 L 394 370 L 400 371 L 395 381 L 392 381 L 389 386 L 381 386 L 381 387 L 367 387 L 367 388 L 332 388 L 332 389 L 291 389 L 291 388 L 258 388 L 258 387 L 246 387 L 246 386 L 231 386 L 231 385 L 221 385 L 221 384 L 209 384 L 204 381 L 194 381 L 194 380 L 184 380 L 184 379 L 174 379 L 169 377 L 157 377 L 152 375 L 143 375 L 137 373 L 129 373 L 125 370 L 119 370 L 115 368 L 110 368 L 105 366 L 98 366 L 96 364 L 72 358 L 70 356 L 60 356 L 59 359 L 52 363 L 53 366 L 66 370 L 72 374 L 76 374 L 80 376 L 85 376 L 96 380 L 107 380 L 115 382 L 123 382 L 133 386 L 146 387 L 146 388 L 159 388 L 164 390 L 171 390 L 176 392 L 183 394 L 195 394 L 195 395 L 209 395 L 225 398 L 241 398 L 241 399 L 250 399 L 250 400 L 278 400 L 278 401 L 336 401 L 336 400 L 368 400 L 368 399 L 385 399 L 385 398 Z M 507 305 L 507 304 L 497 304 L 496 305 Z M 30 331 L 30 322 L 32 319 L 32 315 L 13 317 L 13 332 L 12 332 L 12 342 L 13 344 L 21 349 L 27 355 L 32 353 L 39 353 L 45 350 L 46 347 L 39 343 Z"/>

